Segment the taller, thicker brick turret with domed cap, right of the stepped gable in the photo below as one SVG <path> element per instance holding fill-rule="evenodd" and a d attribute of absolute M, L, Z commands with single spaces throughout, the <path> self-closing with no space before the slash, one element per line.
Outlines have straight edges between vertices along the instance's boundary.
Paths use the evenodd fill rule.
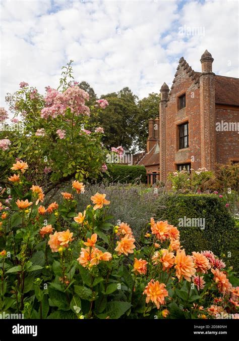
<path fill-rule="evenodd" d="M 212 55 L 206 50 L 200 62 L 200 116 L 201 116 L 201 166 L 208 170 L 215 169 L 216 132 L 215 132 L 215 84 L 212 72 Z"/>

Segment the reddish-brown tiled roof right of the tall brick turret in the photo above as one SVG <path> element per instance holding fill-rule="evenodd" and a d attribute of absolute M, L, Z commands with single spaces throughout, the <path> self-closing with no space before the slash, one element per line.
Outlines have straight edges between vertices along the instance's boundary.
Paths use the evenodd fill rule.
<path fill-rule="evenodd" d="M 215 102 L 217 104 L 239 106 L 239 79 L 216 75 Z"/>

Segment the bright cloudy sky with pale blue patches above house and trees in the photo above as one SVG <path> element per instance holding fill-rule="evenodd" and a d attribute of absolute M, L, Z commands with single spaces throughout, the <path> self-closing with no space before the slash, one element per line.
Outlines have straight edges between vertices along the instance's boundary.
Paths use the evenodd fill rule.
<path fill-rule="evenodd" d="M 2 0 L 0 6 L 0 107 L 21 81 L 42 93 L 46 85 L 57 87 L 71 59 L 75 80 L 89 82 L 98 95 L 124 86 L 140 98 L 159 92 L 164 81 L 171 85 L 180 57 L 200 71 L 206 48 L 216 74 L 238 77 L 237 1 Z"/>

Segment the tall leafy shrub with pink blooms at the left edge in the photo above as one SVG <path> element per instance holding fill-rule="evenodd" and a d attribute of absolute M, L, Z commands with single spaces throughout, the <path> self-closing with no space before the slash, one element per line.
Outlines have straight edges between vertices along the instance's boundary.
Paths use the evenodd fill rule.
<path fill-rule="evenodd" d="M 16 160 L 26 161 L 31 166 L 29 180 L 34 177 L 47 190 L 74 177 L 97 178 L 105 171 L 101 168 L 107 154 L 101 145 L 103 130 L 90 125 L 89 115 L 98 115 L 107 101 L 89 108 L 89 94 L 77 82 L 68 81 L 71 62 L 63 69 L 58 89 L 47 86 L 42 95 L 21 82 L 18 91 L 7 95 L 14 121 L 10 123 L 10 115 L 0 109 L 0 123 L 6 127 L 0 131 L 0 178 Z M 13 123 L 22 129 L 11 130 Z"/>

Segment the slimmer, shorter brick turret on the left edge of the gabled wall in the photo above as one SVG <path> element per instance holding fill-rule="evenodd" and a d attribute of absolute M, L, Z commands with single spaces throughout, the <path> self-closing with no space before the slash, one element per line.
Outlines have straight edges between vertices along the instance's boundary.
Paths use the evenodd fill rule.
<path fill-rule="evenodd" d="M 168 101 L 169 88 L 164 82 L 160 89 L 161 101 L 159 103 L 159 140 L 160 140 L 160 181 L 166 180 L 165 164 L 166 164 L 166 117 L 165 117 L 165 106 Z"/>

